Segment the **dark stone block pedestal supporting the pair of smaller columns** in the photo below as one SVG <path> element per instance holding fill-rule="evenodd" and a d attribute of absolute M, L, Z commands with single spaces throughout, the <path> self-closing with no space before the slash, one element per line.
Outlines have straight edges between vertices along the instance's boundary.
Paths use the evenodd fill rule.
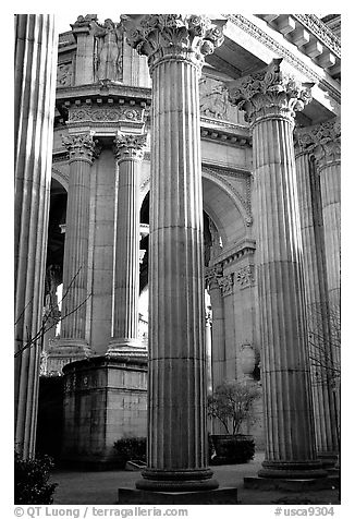
<path fill-rule="evenodd" d="M 63 373 L 62 462 L 117 469 L 114 442 L 146 435 L 147 360 L 93 357 L 68 364 Z"/>

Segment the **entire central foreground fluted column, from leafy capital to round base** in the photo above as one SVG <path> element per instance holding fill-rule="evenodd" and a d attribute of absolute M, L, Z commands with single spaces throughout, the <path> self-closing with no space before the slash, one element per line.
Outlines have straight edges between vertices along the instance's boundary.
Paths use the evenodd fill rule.
<path fill-rule="evenodd" d="M 132 20 L 132 19 L 131 19 Z M 152 80 L 148 467 L 138 488 L 216 488 L 207 460 L 198 77 L 222 43 L 205 16 L 138 16 Z"/>

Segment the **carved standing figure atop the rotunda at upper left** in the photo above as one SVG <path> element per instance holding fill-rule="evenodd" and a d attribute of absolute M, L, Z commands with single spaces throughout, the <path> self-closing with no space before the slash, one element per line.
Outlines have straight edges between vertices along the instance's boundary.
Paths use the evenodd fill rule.
<path fill-rule="evenodd" d="M 95 75 L 97 80 L 122 80 L 123 35 L 118 24 L 105 20 L 95 36 Z"/>

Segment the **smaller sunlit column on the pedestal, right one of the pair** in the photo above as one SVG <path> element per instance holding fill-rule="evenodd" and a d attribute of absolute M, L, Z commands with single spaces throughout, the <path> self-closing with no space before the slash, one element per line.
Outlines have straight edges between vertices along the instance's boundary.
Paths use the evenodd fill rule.
<path fill-rule="evenodd" d="M 108 354 L 146 354 L 139 348 L 139 164 L 146 135 L 118 134 L 115 155 L 119 167 L 115 232 L 113 338 Z"/>

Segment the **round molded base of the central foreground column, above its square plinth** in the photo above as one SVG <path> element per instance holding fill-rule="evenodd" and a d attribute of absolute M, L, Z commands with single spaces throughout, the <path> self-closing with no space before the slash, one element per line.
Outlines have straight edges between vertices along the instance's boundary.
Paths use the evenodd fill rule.
<path fill-rule="evenodd" d="M 145 469 L 142 471 L 142 480 L 136 482 L 136 487 L 156 492 L 212 491 L 219 486 L 212 475 L 210 469 L 172 471 Z"/>

